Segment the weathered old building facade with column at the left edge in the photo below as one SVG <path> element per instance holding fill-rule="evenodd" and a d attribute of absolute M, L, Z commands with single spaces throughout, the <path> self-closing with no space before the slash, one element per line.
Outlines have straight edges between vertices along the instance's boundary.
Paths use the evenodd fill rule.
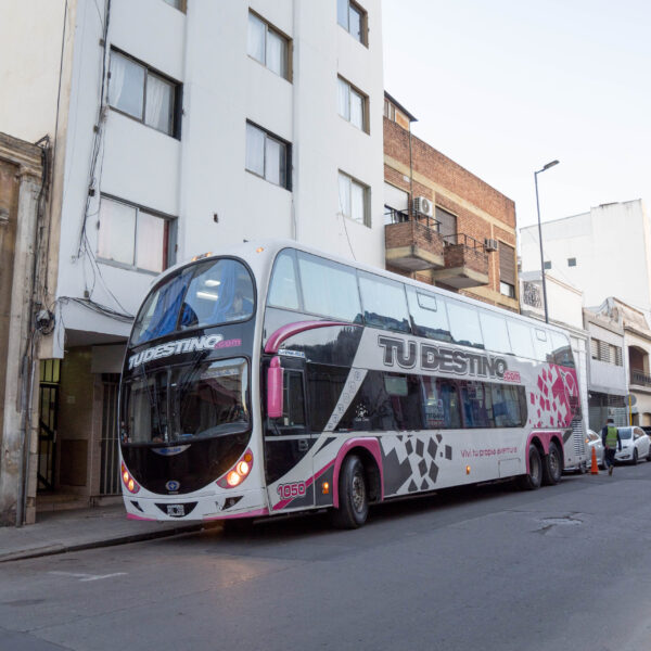
<path fill-rule="evenodd" d="M 49 153 L 48 139 L 33 144 L 0 133 L 0 358 L 5 360 L 0 372 L 0 525 L 35 518 L 41 445 L 37 348 L 52 323 L 43 286 Z"/>

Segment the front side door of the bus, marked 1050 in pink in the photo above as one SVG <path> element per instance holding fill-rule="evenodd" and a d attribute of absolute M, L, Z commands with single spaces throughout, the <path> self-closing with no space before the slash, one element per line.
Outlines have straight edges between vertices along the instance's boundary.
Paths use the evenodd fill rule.
<path fill-rule="evenodd" d="M 307 421 L 305 359 L 281 358 L 283 407 L 280 418 L 267 418 L 265 472 L 273 512 L 314 507 L 311 447 L 318 435 Z"/>

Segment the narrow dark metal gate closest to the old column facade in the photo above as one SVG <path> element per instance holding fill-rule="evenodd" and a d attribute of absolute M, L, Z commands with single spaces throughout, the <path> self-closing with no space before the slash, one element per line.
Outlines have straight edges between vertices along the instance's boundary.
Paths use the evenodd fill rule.
<path fill-rule="evenodd" d="M 54 489 L 61 360 L 42 359 L 39 376 L 38 490 Z"/>

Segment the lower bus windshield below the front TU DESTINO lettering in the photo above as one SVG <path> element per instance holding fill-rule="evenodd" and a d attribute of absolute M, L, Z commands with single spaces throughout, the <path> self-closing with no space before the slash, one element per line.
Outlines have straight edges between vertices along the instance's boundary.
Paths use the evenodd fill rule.
<path fill-rule="evenodd" d="M 244 358 L 167 367 L 124 385 L 123 444 L 181 444 L 250 427 Z"/>

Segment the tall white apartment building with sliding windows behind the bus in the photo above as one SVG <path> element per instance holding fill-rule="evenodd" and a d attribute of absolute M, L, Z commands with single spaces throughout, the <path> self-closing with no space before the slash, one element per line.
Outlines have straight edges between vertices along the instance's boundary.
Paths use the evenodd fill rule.
<path fill-rule="evenodd" d="M 0 130 L 53 156 L 33 521 L 37 484 L 117 493 L 108 416 L 156 273 L 277 237 L 384 266 L 381 2 L 26 0 L 0 54 Z"/>

